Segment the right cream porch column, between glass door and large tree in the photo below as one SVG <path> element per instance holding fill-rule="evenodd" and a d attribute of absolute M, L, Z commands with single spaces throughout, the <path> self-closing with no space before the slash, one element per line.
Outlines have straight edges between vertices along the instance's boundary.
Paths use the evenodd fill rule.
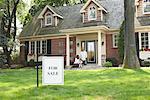
<path fill-rule="evenodd" d="M 101 31 L 98 31 L 98 66 L 102 66 L 101 62 L 101 55 L 102 55 L 102 38 L 101 38 Z"/>

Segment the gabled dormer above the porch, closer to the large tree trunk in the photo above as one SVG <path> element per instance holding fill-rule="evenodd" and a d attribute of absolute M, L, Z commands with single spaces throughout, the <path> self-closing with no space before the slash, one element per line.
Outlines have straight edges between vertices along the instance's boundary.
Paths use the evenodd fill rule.
<path fill-rule="evenodd" d="M 85 5 L 81 8 L 80 13 L 82 14 L 83 23 L 91 21 L 103 21 L 104 14 L 107 10 L 100 5 L 96 0 L 88 0 Z"/>

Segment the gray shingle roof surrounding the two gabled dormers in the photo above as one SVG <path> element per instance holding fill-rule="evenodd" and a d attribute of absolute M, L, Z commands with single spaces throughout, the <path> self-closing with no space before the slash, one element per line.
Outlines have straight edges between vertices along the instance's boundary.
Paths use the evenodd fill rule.
<path fill-rule="evenodd" d="M 45 27 L 40 28 L 40 21 L 37 19 L 38 15 L 42 9 L 37 12 L 35 17 L 32 19 L 28 25 L 26 25 L 22 31 L 21 37 L 31 36 L 31 35 L 45 35 L 45 34 L 59 34 L 61 29 L 72 29 L 72 28 L 81 28 L 89 26 L 99 26 L 106 25 L 109 28 L 118 29 L 124 20 L 124 0 L 97 0 L 108 13 L 105 14 L 105 20 L 102 21 L 93 21 L 90 23 L 82 23 L 82 15 L 80 10 L 84 4 L 77 4 L 73 6 L 61 6 L 61 7 L 51 7 L 57 14 L 63 16 L 63 19 L 59 22 L 57 27 Z M 147 18 L 138 18 L 136 21 L 141 23 L 141 25 L 149 25 L 150 17 Z M 144 21 L 144 23 L 143 23 Z M 146 24 L 145 24 L 146 23 Z"/>

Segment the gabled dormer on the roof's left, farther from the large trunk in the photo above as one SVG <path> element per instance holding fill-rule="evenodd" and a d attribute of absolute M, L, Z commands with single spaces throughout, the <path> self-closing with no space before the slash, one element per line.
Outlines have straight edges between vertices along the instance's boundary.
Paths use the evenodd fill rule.
<path fill-rule="evenodd" d="M 41 21 L 41 28 L 48 26 L 57 26 L 60 19 L 63 19 L 61 14 L 51 6 L 45 6 L 38 19 Z"/>

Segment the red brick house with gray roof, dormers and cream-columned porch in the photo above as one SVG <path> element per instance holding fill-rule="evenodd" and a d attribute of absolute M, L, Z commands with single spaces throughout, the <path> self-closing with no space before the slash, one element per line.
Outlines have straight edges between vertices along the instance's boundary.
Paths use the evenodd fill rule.
<path fill-rule="evenodd" d="M 136 42 L 141 59 L 150 57 L 150 0 L 135 2 Z M 45 6 L 28 23 L 19 40 L 21 62 L 41 61 L 44 54 L 65 55 L 66 65 L 84 48 L 87 62 L 102 66 L 107 58 L 119 63 L 117 34 L 124 20 L 124 0 L 88 0 L 73 6 Z M 142 51 L 143 48 L 145 51 Z"/>

